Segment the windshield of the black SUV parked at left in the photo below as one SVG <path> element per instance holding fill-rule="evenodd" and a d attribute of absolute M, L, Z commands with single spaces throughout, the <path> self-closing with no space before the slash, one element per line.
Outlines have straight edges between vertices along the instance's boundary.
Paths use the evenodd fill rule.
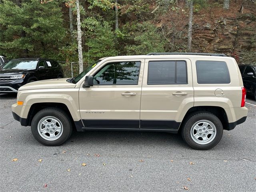
<path fill-rule="evenodd" d="M 12 60 L 9 61 L 3 69 L 36 69 L 38 61 L 30 60 Z"/>

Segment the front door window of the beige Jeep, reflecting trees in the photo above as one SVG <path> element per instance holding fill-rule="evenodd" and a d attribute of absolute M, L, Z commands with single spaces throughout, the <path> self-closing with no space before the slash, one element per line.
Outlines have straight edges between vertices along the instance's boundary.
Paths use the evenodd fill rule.
<path fill-rule="evenodd" d="M 106 64 L 94 75 L 96 85 L 138 84 L 140 62 L 113 62 Z"/>

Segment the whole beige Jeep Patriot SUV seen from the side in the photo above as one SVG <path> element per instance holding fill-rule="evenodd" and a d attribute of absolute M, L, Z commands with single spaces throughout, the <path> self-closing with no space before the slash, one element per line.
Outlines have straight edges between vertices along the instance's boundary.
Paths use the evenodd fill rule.
<path fill-rule="evenodd" d="M 150 53 L 102 58 L 72 79 L 19 88 L 12 113 L 41 144 L 57 146 L 85 130 L 180 132 L 210 149 L 246 120 L 246 90 L 224 54 Z"/>

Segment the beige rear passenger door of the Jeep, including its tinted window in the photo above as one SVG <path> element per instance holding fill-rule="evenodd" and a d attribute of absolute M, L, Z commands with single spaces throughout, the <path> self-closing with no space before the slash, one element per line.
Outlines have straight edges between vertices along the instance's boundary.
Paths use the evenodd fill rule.
<path fill-rule="evenodd" d="M 181 114 L 193 103 L 189 59 L 145 60 L 140 128 L 178 130 Z"/>

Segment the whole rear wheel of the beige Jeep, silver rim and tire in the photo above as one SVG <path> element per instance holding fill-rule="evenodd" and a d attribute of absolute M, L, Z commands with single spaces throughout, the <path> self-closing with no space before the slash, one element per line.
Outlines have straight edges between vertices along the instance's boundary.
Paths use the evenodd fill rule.
<path fill-rule="evenodd" d="M 220 119 L 210 112 L 195 112 L 188 116 L 182 127 L 182 138 L 197 150 L 213 148 L 220 142 L 223 126 Z"/>

